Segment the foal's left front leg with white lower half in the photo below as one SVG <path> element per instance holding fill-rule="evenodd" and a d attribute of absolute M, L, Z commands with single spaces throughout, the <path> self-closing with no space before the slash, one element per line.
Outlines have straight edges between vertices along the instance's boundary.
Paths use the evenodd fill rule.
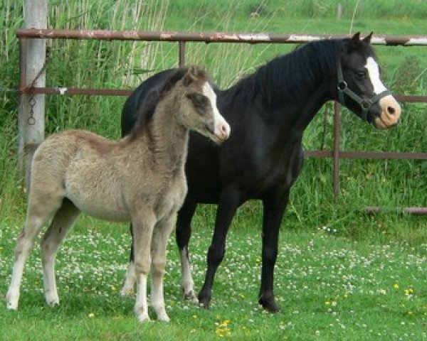
<path fill-rule="evenodd" d="M 145 210 L 132 217 L 135 247 L 135 276 L 137 278 L 137 298 L 135 314 L 139 321 L 149 321 L 147 306 L 147 276 L 151 266 L 151 242 L 154 224 L 154 212 Z"/>

